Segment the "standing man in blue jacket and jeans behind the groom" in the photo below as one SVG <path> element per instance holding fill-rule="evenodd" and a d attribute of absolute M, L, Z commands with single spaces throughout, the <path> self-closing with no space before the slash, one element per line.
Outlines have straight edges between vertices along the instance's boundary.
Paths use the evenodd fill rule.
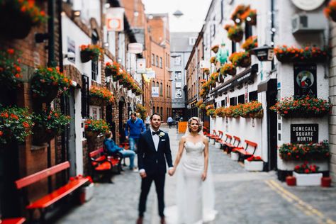
<path fill-rule="evenodd" d="M 132 113 L 128 119 L 125 128 L 126 139 L 130 142 L 130 150 L 136 151 L 140 134 L 146 130 L 145 124 L 140 118 L 137 118 L 137 113 Z"/>

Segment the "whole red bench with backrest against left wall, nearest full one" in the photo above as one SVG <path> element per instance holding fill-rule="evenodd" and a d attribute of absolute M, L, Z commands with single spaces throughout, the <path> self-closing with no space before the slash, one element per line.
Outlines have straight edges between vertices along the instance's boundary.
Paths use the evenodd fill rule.
<path fill-rule="evenodd" d="M 17 181 L 15 181 L 16 189 L 22 189 L 25 186 L 34 184 L 35 182 L 50 177 L 53 174 L 57 174 L 58 172 L 62 172 L 63 170 L 69 169 L 69 167 L 70 163 L 68 161 L 62 162 L 53 167 L 43 169 L 42 171 L 37 172 L 35 174 L 31 174 L 27 177 L 18 179 Z M 30 218 L 33 218 L 33 211 L 35 209 L 38 209 L 40 210 L 41 213 L 40 220 L 44 222 L 46 208 L 51 206 L 53 203 L 60 201 L 60 199 L 72 193 L 74 190 L 78 189 L 83 184 L 86 184 L 87 181 L 89 181 L 89 179 L 86 177 L 76 178 L 72 181 L 69 181 L 64 186 L 61 186 L 59 189 L 52 191 L 50 194 L 47 194 L 46 196 L 43 196 L 42 198 L 39 198 L 36 201 L 31 201 L 28 204 L 28 206 L 26 206 L 26 208 L 30 211 Z"/>

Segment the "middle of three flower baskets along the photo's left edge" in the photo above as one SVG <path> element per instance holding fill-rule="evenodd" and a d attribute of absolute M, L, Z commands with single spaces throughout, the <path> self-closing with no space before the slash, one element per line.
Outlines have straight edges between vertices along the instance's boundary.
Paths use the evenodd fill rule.
<path fill-rule="evenodd" d="M 15 89 L 22 83 L 21 67 L 16 50 L 9 48 L 0 51 L 0 86 Z"/>

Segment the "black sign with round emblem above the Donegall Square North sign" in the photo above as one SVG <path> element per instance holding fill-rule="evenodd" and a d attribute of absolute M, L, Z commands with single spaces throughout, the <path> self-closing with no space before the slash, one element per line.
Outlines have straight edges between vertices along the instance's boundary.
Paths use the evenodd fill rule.
<path fill-rule="evenodd" d="M 294 65 L 294 96 L 306 95 L 317 97 L 316 65 Z"/>

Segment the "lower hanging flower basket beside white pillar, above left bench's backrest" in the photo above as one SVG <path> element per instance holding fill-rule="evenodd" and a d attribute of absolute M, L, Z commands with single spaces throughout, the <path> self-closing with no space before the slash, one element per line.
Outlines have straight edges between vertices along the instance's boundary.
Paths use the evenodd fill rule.
<path fill-rule="evenodd" d="M 33 116 L 33 145 L 43 145 L 58 135 L 70 123 L 70 117 L 60 111 L 45 108 Z"/>

